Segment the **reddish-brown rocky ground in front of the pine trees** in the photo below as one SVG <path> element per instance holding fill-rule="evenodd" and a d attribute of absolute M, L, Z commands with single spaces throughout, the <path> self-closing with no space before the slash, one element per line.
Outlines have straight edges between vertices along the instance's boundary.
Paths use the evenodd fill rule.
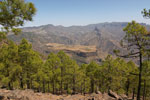
<path fill-rule="evenodd" d="M 114 92 L 93 94 L 52 95 L 50 93 L 35 93 L 32 90 L 0 89 L 0 100 L 128 100 L 126 96 L 119 96 Z"/>

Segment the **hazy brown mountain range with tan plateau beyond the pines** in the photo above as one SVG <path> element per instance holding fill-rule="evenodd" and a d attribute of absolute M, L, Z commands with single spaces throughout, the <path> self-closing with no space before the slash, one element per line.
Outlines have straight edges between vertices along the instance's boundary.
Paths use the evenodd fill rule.
<path fill-rule="evenodd" d="M 119 41 L 125 35 L 123 28 L 126 25 L 127 22 L 70 27 L 49 24 L 26 27 L 22 34 L 8 37 L 15 42 L 26 38 L 35 50 L 45 55 L 63 50 L 78 62 L 88 63 L 91 60 L 101 61 L 108 54 L 113 55 L 113 49 L 121 49 Z M 149 25 L 142 25 L 149 28 Z"/>

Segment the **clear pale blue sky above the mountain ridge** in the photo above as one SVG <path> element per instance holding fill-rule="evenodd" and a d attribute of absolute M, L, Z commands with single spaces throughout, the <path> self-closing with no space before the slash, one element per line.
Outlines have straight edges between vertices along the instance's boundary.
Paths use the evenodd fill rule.
<path fill-rule="evenodd" d="M 26 0 L 33 2 L 37 13 L 26 27 L 53 25 L 88 25 L 103 22 L 150 24 L 141 11 L 150 9 L 150 0 Z"/>

